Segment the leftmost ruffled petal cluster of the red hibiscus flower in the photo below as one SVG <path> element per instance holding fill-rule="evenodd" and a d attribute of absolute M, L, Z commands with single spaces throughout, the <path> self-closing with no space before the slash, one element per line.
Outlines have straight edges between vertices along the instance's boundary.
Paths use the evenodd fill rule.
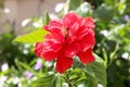
<path fill-rule="evenodd" d="M 37 57 L 51 61 L 56 58 L 55 51 L 60 49 L 60 45 L 53 41 L 38 42 L 35 46 L 35 53 Z"/>

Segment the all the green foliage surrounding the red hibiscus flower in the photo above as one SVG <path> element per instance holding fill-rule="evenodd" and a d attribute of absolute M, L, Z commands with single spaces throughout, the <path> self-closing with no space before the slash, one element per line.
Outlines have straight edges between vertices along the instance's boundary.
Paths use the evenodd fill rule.
<path fill-rule="evenodd" d="M 32 23 L 40 25 L 35 27 L 32 33 L 15 38 L 14 33 L 3 34 L 0 37 L 0 61 L 6 62 L 16 67 L 10 66 L 6 71 L 0 72 L 0 76 L 8 76 L 3 87 L 15 87 L 14 76 L 20 77 L 23 87 L 129 87 L 130 86 L 130 18 L 123 18 L 126 14 L 130 15 L 129 0 L 67 0 L 63 14 L 75 11 L 80 16 L 93 16 L 95 21 L 94 47 L 95 62 L 84 65 L 79 59 L 75 58 L 74 65 L 65 74 L 58 74 L 54 71 L 54 61 L 48 66 L 43 63 L 41 70 L 35 70 L 36 59 L 32 47 L 25 48 L 16 42 L 35 44 L 43 41 L 43 36 L 48 34 L 41 29 L 42 25 L 48 25 L 50 21 L 47 12 L 43 18 L 35 17 Z M 30 28 L 30 27 L 25 27 Z M 31 26 L 34 28 L 34 26 Z M 13 40 L 14 39 L 14 40 Z M 16 41 L 11 45 L 11 41 Z M 21 49 L 18 49 L 21 48 Z M 10 49 L 10 50 L 8 50 Z M 28 53 L 24 53 L 24 50 Z M 10 53 L 10 54 L 9 54 Z M 15 59 L 18 59 L 14 62 Z M 23 60 L 24 58 L 24 60 Z M 13 62 L 12 62 L 13 61 Z M 1 63 L 2 63 L 1 62 Z M 25 72 L 34 74 L 29 79 Z M 66 84 L 66 85 L 65 85 Z"/>

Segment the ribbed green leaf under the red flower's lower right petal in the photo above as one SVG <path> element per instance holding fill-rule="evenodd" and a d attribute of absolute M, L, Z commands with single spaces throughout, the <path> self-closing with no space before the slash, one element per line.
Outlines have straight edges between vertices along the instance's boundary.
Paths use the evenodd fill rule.
<path fill-rule="evenodd" d="M 94 55 L 95 55 L 96 61 L 87 65 L 86 74 L 88 78 L 94 77 L 95 82 L 106 87 L 106 70 L 105 70 L 104 62 L 96 54 Z M 93 82 L 93 84 L 98 84 L 98 83 Z"/>

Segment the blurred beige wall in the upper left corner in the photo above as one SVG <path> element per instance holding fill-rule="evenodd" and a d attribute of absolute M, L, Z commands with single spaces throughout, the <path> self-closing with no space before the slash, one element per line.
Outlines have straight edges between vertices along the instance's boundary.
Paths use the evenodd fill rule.
<path fill-rule="evenodd" d="M 5 27 L 9 23 L 16 34 L 22 34 L 24 20 L 40 16 L 44 11 L 55 13 L 55 5 L 63 2 L 65 0 L 0 0 L 0 33 L 6 32 Z"/>

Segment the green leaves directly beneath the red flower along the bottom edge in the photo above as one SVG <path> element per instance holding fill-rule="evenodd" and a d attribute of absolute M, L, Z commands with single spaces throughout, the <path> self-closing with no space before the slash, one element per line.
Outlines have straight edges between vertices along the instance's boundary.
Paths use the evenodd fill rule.
<path fill-rule="evenodd" d="M 76 64 L 79 63 L 79 66 L 66 71 L 65 74 L 54 72 L 42 74 L 43 76 L 40 76 L 32 84 L 32 87 L 64 87 L 64 83 L 74 87 L 78 87 L 79 85 L 83 85 L 83 87 L 98 87 L 98 84 L 102 84 L 106 87 L 104 62 L 96 54 L 94 55 L 96 58 L 95 62 L 88 65 L 83 65 L 80 61 L 75 62 Z"/>

